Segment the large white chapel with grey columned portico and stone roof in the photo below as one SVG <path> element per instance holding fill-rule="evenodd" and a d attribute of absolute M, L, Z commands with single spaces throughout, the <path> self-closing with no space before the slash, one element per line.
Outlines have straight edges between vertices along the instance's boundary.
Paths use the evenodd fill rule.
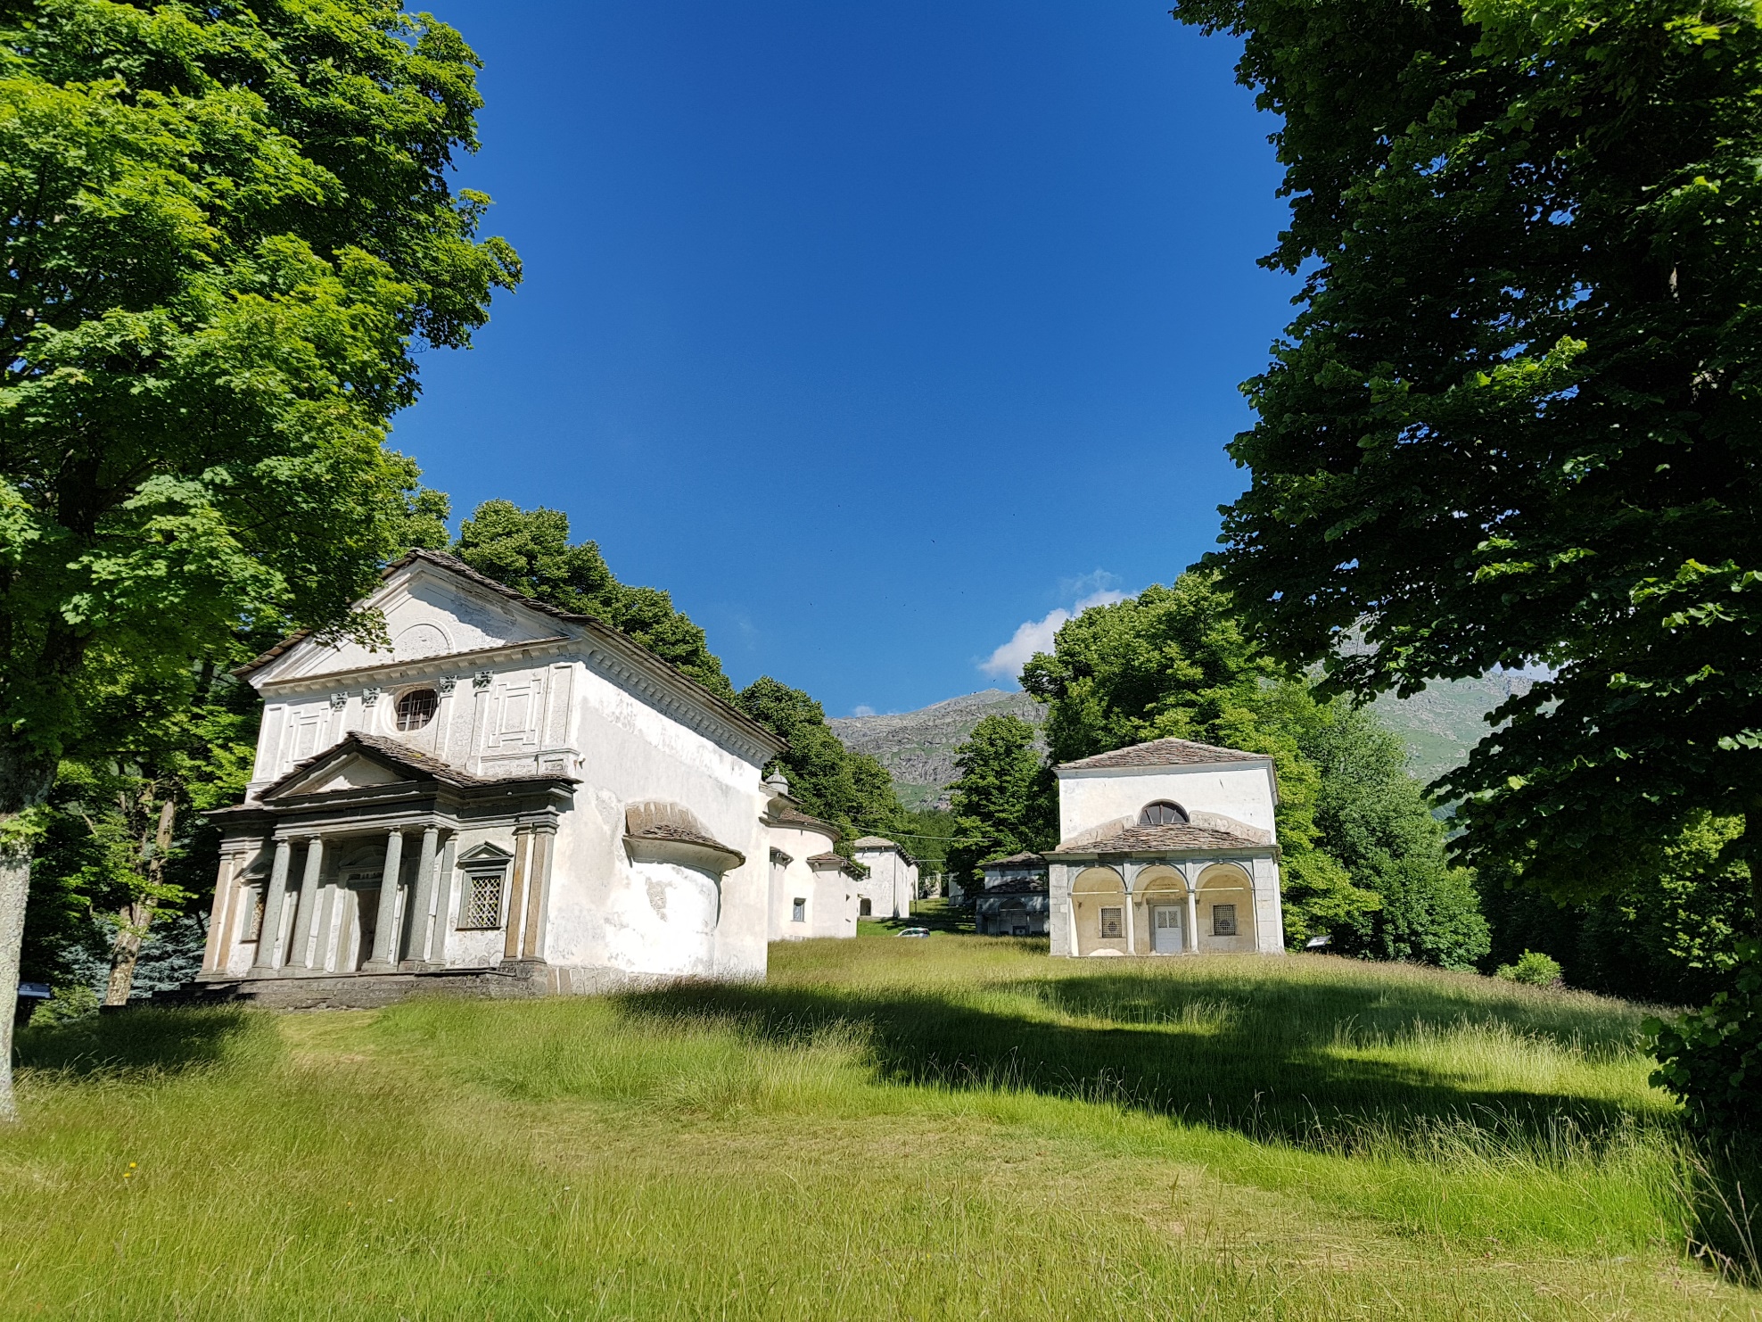
<path fill-rule="evenodd" d="M 245 802 L 211 814 L 210 992 L 370 1005 L 423 984 L 761 978 L 795 895 L 812 934 L 844 910 L 855 934 L 858 869 L 763 783 L 786 749 L 765 726 L 439 552 L 361 605 L 389 654 L 296 635 L 241 672 L 264 714 Z"/>

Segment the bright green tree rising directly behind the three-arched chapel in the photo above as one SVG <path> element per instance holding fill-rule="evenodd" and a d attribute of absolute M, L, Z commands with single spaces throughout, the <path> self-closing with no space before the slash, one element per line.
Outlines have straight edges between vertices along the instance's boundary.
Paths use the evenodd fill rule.
<path fill-rule="evenodd" d="M 1047 703 L 1054 761 L 1151 739 L 1265 753 L 1279 777 L 1277 837 L 1284 871 L 1284 936 L 1336 932 L 1376 908 L 1376 894 L 1316 848 L 1322 776 L 1292 732 L 1288 707 L 1306 700 L 1290 672 L 1244 631 L 1210 571 L 1188 571 L 1112 606 L 1068 620 L 1054 650 L 1022 670 Z"/>

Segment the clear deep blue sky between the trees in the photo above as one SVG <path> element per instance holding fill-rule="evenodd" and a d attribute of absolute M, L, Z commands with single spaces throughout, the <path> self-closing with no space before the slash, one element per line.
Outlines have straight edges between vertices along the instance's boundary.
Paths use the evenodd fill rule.
<path fill-rule="evenodd" d="M 1232 42 L 1168 0 L 428 7 L 527 270 L 396 421 L 455 515 L 564 509 L 828 716 L 1008 687 L 1214 545 L 1293 293 Z"/>

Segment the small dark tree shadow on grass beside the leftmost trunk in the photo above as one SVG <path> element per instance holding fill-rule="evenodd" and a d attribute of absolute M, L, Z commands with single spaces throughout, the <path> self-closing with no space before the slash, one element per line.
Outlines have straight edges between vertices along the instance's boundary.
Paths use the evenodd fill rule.
<path fill-rule="evenodd" d="M 273 1051 L 273 1029 L 261 1012 L 238 1006 L 129 1010 L 53 1028 L 26 1026 L 14 1047 L 26 1070 L 171 1075 Z"/>

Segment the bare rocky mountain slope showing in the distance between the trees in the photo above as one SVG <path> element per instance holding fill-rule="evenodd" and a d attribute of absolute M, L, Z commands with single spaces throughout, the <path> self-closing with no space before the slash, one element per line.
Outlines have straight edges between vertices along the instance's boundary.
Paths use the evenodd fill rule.
<path fill-rule="evenodd" d="M 1406 740 L 1413 774 L 1431 781 L 1459 767 L 1487 733 L 1482 716 L 1514 693 L 1528 693 L 1529 684 L 1528 677 L 1515 673 L 1459 679 L 1433 684 L 1411 698 L 1385 694 L 1373 707 Z M 1034 724 L 1045 717 L 1045 709 L 1025 693 L 983 689 L 916 712 L 844 716 L 828 724 L 846 747 L 881 760 L 907 807 L 946 807 L 944 791 L 955 779 L 955 747 L 981 717 L 994 712 L 1020 716 Z"/>

